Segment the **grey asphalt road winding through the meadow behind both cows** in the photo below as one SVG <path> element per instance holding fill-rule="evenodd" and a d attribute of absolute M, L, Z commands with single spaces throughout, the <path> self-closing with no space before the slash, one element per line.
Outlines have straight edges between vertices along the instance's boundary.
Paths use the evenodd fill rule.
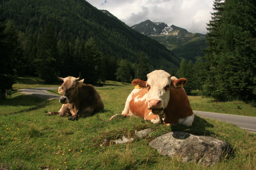
<path fill-rule="evenodd" d="M 45 99 L 54 99 L 54 98 L 59 98 L 60 95 L 51 94 L 47 90 L 53 90 L 57 88 L 58 87 L 26 88 L 26 89 L 20 89 L 19 92 L 27 95 L 39 96 Z M 228 123 L 235 124 L 242 129 L 256 132 L 255 117 L 221 114 L 221 113 L 213 113 L 213 112 L 203 112 L 203 111 L 193 111 L 193 112 L 197 116 L 200 116 L 203 118 L 210 118 L 210 119 L 225 121 Z"/>

